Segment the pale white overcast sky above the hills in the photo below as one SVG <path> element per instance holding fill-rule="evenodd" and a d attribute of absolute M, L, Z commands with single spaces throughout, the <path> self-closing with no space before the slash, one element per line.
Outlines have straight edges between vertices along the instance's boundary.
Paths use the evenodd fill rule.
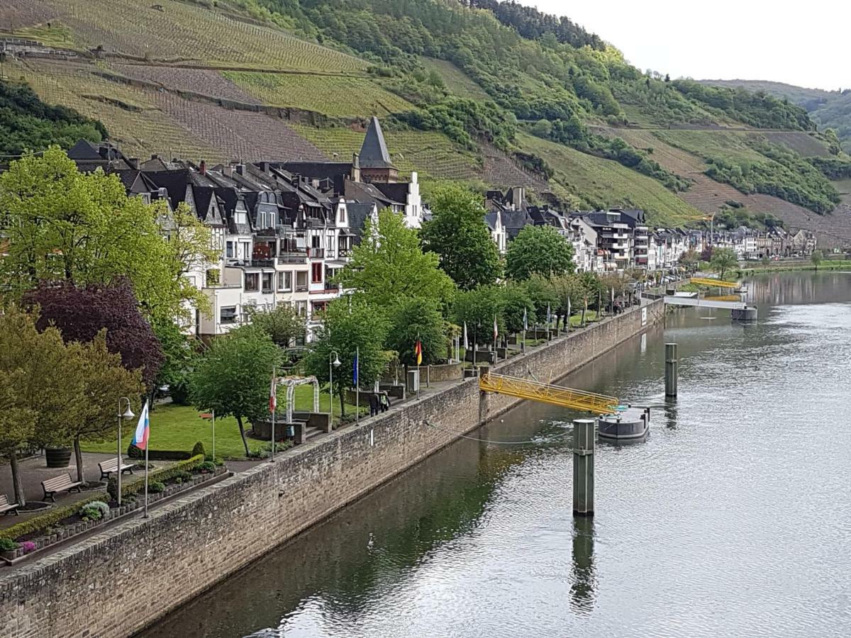
<path fill-rule="evenodd" d="M 597 33 L 634 66 L 671 77 L 851 87 L 851 2 L 520 0 Z"/>

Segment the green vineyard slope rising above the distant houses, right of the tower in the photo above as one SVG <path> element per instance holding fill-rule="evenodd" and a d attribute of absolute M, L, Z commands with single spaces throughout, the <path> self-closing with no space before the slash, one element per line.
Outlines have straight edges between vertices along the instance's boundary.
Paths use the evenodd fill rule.
<path fill-rule="evenodd" d="M 700 211 L 655 179 L 618 162 L 592 157 L 532 135 L 518 137 L 521 147 L 543 157 L 557 181 L 589 206 L 634 206 L 648 212 L 653 225 L 671 226 L 700 217 Z"/>

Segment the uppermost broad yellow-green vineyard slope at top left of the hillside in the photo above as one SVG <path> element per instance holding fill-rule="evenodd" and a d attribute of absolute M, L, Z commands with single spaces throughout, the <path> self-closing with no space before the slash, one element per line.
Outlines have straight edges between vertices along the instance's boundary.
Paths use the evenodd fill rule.
<path fill-rule="evenodd" d="M 57 20 L 87 47 L 146 60 L 307 71 L 356 71 L 367 66 L 354 56 L 283 31 L 174 0 L 134 3 L 127 10 L 117 10 L 114 0 L 45 0 L 45 4 L 52 5 Z"/>

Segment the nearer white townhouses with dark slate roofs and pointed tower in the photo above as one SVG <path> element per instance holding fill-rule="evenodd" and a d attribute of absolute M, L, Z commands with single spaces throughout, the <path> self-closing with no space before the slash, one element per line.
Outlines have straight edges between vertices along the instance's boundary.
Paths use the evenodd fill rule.
<path fill-rule="evenodd" d="M 229 162 L 208 167 L 124 157 L 110 145 L 77 143 L 69 157 L 81 170 L 103 168 L 122 179 L 130 195 L 186 204 L 207 225 L 214 263 L 187 273 L 211 311 L 189 309 L 200 337 L 227 333 L 254 310 L 284 304 L 306 318 L 307 339 L 328 302 L 345 291 L 334 276 L 349 260 L 368 219 L 390 208 L 419 227 L 423 211 L 417 174 L 398 180 L 380 123 L 369 122 L 351 162 Z M 165 228 L 168 232 L 168 227 Z"/>

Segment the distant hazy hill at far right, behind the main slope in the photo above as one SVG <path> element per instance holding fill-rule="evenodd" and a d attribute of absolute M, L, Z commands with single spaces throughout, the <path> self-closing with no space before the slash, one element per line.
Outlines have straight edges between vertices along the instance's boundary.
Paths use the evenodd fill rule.
<path fill-rule="evenodd" d="M 762 91 L 802 106 L 819 128 L 836 131 L 842 147 L 851 151 L 851 88 L 825 91 L 763 80 L 703 80 L 702 83 L 725 88 Z"/>

